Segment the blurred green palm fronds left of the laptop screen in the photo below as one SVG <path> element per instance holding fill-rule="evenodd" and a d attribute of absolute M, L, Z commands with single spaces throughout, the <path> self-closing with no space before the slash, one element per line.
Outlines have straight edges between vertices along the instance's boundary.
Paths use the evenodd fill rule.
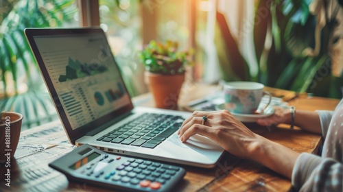
<path fill-rule="evenodd" d="M 23 34 L 25 27 L 60 27 L 72 21 L 71 0 L 19 0 L 8 3 L 0 32 L 0 102 L 24 115 L 23 127 L 51 121 L 56 111 Z M 5 12 L 6 13 L 6 12 Z"/>

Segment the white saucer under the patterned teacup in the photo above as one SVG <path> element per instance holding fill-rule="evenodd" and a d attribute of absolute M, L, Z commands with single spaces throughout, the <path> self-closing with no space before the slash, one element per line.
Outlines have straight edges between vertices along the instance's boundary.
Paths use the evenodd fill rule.
<path fill-rule="evenodd" d="M 215 106 L 216 110 L 223 110 L 226 109 L 224 104 L 219 104 Z M 235 116 L 239 121 L 244 122 L 244 123 L 252 123 L 256 122 L 257 119 L 261 119 L 264 117 L 269 117 L 270 115 L 274 114 L 274 108 L 272 106 L 268 106 L 263 110 L 262 114 L 242 114 L 242 113 L 236 113 L 236 112 L 231 112 L 233 116 Z"/>

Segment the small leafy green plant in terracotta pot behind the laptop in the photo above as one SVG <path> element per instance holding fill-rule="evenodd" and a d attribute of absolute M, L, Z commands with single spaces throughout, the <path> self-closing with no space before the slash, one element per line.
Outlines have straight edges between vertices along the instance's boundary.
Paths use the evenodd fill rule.
<path fill-rule="evenodd" d="M 140 53 L 145 66 L 145 83 L 157 108 L 178 108 L 178 96 L 185 81 L 185 67 L 193 64 L 193 49 L 178 51 L 176 41 L 150 41 Z"/>

